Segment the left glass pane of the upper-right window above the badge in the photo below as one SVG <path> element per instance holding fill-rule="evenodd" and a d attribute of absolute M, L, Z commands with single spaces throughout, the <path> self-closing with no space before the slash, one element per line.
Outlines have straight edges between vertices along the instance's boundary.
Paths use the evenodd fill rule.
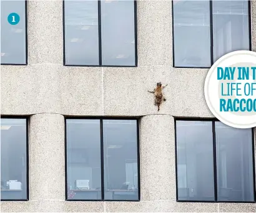
<path fill-rule="evenodd" d="M 210 67 L 210 1 L 173 2 L 175 67 Z"/>

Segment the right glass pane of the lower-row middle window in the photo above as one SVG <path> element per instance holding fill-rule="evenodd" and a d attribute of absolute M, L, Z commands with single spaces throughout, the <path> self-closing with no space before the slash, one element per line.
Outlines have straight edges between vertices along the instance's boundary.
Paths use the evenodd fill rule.
<path fill-rule="evenodd" d="M 137 121 L 103 120 L 104 196 L 138 200 Z"/>

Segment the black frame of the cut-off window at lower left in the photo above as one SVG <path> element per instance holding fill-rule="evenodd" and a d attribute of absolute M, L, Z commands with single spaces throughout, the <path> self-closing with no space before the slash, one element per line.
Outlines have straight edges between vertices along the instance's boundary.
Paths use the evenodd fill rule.
<path fill-rule="evenodd" d="M 29 201 L 29 116 L 1 115 L 4 119 L 26 119 L 26 185 L 27 199 L 1 199 L 1 201 Z"/>

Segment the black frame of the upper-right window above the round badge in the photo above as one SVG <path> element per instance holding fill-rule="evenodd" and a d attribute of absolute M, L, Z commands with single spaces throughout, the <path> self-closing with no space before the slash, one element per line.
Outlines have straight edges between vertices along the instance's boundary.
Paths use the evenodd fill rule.
<path fill-rule="evenodd" d="M 185 0 L 182 0 L 185 1 Z M 198 0 L 194 0 L 198 1 Z M 214 25 L 212 20 L 212 1 L 209 1 L 210 7 L 210 62 L 211 66 L 214 64 Z M 252 51 L 252 10 L 250 0 L 248 2 L 248 17 L 249 17 L 249 50 Z M 183 67 L 183 66 L 175 66 L 175 46 L 174 46 L 174 1 L 172 1 L 172 64 L 174 68 L 187 68 L 187 69 L 209 69 L 210 67 Z"/>

